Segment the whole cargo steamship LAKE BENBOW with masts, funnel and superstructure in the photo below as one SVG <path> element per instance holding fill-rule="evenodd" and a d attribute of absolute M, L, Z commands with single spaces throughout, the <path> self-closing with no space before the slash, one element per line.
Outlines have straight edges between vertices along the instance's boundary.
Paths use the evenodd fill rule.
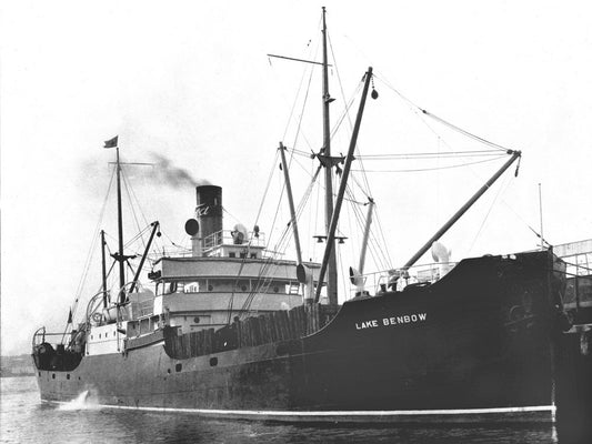
<path fill-rule="evenodd" d="M 86 396 L 113 408 L 287 422 L 552 422 L 559 339 L 569 330 L 565 265 L 552 249 L 450 263 L 440 238 L 521 157 L 509 160 L 402 266 L 364 274 L 369 202 L 353 297 L 339 303 L 335 242 L 372 68 L 347 157 L 331 153 L 327 26 L 322 16 L 325 233 L 320 262 L 303 261 L 285 148 L 280 144 L 295 260 L 268 250 L 259 226 L 224 230 L 222 189 L 195 188 L 191 249 L 153 259 L 150 239 L 126 276 L 117 150 L 119 284 L 101 290 L 66 332 L 39 329 L 32 359 L 41 400 Z M 307 61 L 304 61 L 307 62 Z M 341 167 L 340 167 L 341 165 Z M 332 176 L 341 180 L 337 198 Z M 518 172 L 518 170 L 516 170 Z M 417 269 L 431 250 L 435 264 Z M 347 297 L 341 297 L 341 300 Z"/>

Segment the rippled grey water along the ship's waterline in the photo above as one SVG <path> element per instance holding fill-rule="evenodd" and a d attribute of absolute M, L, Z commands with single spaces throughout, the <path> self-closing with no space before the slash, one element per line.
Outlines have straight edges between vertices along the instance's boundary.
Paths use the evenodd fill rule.
<path fill-rule="evenodd" d="M 218 421 L 92 408 L 84 394 L 58 407 L 40 403 L 34 377 L 2 379 L 1 383 L 1 443 L 558 443 L 549 425 L 387 427 Z"/>

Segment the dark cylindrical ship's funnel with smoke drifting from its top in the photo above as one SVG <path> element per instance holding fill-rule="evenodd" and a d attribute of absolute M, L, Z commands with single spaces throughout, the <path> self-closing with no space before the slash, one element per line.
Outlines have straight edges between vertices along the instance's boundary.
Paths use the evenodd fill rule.
<path fill-rule="evenodd" d="M 222 243 L 222 189 L 215 185 L 195 186 L 195 216 L 203 249 Z M 215 235 L 214 235 L 215 234 Z"/>

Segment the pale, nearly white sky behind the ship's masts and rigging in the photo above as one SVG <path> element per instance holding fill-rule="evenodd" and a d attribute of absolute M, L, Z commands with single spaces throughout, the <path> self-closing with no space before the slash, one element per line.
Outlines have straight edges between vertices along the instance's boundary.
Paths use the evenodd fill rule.
<path fill-rule="evenodd" d="M 334 153 L 347 152 L 351 135 L 348 118 L 338 125 L 342 110 L 352 100 L 353 120 L 354 92 L 368 67 L 374 69 L 380 97 L 369 100 L 359 139 L 370 189 L 352 188 L 361 203 L 369 194 L 377 202 L 390 266 L 402 265 L 504 162 L 412 174 L 402 170 L 471 160 L 371 160 L 490 149 L 418 109 L 523 153 L 518 178 L 512 167 L 442 239 L 453 260 L 535 249 L 539 184 L 544 238 L 551 244 L 592 238 L 585 1 L 3 1 L 2 354 L 28 353 L 39 326 L 63 329 L 114 160 L 102 143 L 116 134 L 123 161 L 155 164 L 126 171 L 139 219 L 161 222 L 161 245 L 187 244 L 193 182 L 223 186 L 227 228 L 257 222 L 270 240 L 281 232 L 289 215 L 284 200 L 282 222 L 272 223 L 283 185 L 277 147 L 317 152 L 322 145 L 320 71 L 309 77 L 312 65 L 267 54 L 320 60 L 322 6 L 334 54 Z M 299 201 L 315 161 L 295 155 L 293 162 Z M 181 170 L 192 179 L 167 175 Z M 351 241 L 340 246 L 343 266 L 359 251 L 359 235 L 344 223 L 355 219 L 352 211 L 344 209 L 340 224 Z M 104 229 L 114 235 L 112 212 L 110 203 Z M 301 222 L 304 254 L 318 261 L 319 214 L 307 210 Z M 132 218 L 126 223 L 131 235 Z"/>

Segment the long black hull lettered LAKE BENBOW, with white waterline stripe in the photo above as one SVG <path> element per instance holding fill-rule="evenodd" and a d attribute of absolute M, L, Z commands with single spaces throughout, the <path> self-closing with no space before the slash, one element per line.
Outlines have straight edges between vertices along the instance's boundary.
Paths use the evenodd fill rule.
<path fill-rule="evenodd" d="M 461 262 L 428 287 L 354 300 L 307 337 L 178 360 L 163 343 L 38 371 L 41 398 L 275 421 L 554 420 L 550 253 Z"/>

